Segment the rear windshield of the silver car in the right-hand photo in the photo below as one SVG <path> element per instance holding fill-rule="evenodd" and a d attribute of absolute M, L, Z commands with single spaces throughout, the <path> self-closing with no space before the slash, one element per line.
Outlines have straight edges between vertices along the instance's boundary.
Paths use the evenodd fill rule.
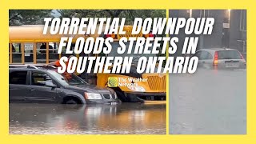
<path fill-rule="evenodd" d="M 218 59 L 242 59 L 237 50 L 219 50 Z"/>

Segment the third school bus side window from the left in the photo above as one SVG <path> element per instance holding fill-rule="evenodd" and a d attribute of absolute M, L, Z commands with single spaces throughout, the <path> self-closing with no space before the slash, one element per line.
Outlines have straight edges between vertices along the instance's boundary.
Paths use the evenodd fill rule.
<path fill-rule="evenodd" d="M 37 63 L 46 63 L 46 43 L 37 43 Z"/>

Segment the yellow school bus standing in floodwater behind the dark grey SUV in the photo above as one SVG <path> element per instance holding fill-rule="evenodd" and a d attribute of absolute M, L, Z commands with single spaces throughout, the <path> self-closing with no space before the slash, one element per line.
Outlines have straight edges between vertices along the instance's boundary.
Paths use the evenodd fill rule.
<path fill-rule="evenodd" d="M 134 37 L 130 34 L 131 26 L 125 26 L 126 35 L 113 35 L 112 49 L 118 47 L 118 39 L 122 37 Z M 73 42 L 79 37 L 88 38 L 98 37 L 99 35 L 60 35 L 60 34 L 42 34 L 43 26 L 10 26 L 9 28 L 9 55 L 10 64 L 48 64 L 55 62 L 62 56 L 66 55 L 66 49 L 62 49 L 62 54 L 58 54 L 58 46 L 60 38 L 63 36 L 73 37 Z M 136 37 L 141 37 L 142 34 L 137 34 Z M 154 56 L 144 55 L 142 56 Z M 78 55 L 77 55 L 78 56 Z M 98 56 L 98 55 L 95 55 Z M 117 54 L 116 50 L 111 50 L 106 56 L 128 56 L 126 54 Z M 133 56 L 133 55 L 129 55 Z M 134 61 L 139 55 L 134 55 Z M 136 62 L 135 62 L 136 63 Z M 111 78 L 143 78 L 134 86 L 115 86 L 111 87 L 118 94 L 118 98 L 122 102 L 166 102 L 166 74 L 138 74 L 136 72 L 136 64 L 133 64 L 130 69 L 130 74 L 86 74 L 86 81 L 97 86 L 106 87 Z M 111 67 L 110 67 L 111 69 Z"/>

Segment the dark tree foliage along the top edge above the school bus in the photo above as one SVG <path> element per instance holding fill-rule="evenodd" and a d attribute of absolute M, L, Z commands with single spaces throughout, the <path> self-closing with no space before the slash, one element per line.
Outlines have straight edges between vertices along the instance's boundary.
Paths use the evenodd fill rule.
<path fill-rule="evenodd" d="M 60 18 L 126 18 L 126 25 L 134 18 L 166 17 L 166 10 L 55 10 Z M 9 10 L 9 26 L 42 25 L 43 18 L 53 17 L 52 10 Z"/>

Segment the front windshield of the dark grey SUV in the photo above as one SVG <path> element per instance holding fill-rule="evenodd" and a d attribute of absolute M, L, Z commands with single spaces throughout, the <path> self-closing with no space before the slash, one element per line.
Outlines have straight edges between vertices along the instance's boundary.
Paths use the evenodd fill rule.
<path fill-rule="evenodd" d="M 81 78 L 74 74 L 63 73 L 59 74 L 57 71 L 49 70 L 49 73 L 54 76 L 58 80 L 58 82 L 62 83 L 64 86 L 73 86 L 73 85 L 88 85 L 88 83 L 84 82 Z"/>

